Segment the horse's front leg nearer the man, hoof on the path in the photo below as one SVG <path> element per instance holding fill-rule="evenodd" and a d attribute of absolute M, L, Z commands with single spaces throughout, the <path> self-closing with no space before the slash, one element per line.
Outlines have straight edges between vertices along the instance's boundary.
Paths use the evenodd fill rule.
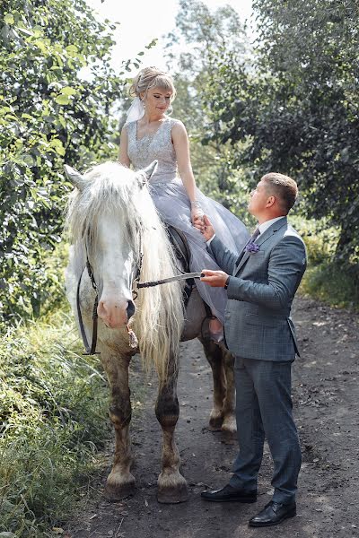
<path fill-rule="evenodd" d="M 161 383 L 156 402 L 156 417 L 162 426 L 162 473 L 158 477 L 157 499 L 162 503 L 188 500 L 187 482 L 180 474 L 180 453 L 174 440 L 174 431 L 180 415 L 177 398 L 178 367 L 170 360 L 167 378 Z"/>

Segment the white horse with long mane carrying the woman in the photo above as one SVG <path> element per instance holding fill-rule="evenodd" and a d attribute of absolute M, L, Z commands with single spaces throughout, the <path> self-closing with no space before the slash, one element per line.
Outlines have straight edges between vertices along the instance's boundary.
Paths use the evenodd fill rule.
<path fill-rule="evenodd" d="M 179 282 L 136 290 L 134 281 L 139 271 L 142 281 L 179 273 L 179 262 L 148 189 L 153 169 L 151 165 L 134 172 L 107 162 L 81 175 L 66 166 L 66 175 L 76 187 L 67 214 L 73 247 L 66 288 L 77 322 L 78 289 L 80 317 L 87 336 L 92 335 L 96 296 L 92 282 L 96 283 L 98 293 L 98 350 L 109 377 L 109 415 L 116 432 L 114 464 L 107 479 L 106 495 L 110 500 L 124 499 L 135 489 L 135 478 L 130 472 L 133 456 L 128 366 L 139 351 L 145 367 L 154 366 L 159 377 L 155 413 L 162 426 L 163 446 L 158 500 L 169 503 L 188 499 L 174 441 L 180 411 L 176 395 L 180 340 L 198 337 L 203 343 L 214 377 L 210 425 L 229 432 L 235 430 L 233 359 L 224 346 L 211 342 L 208 331 L 203 330 L 207 326 L 206 309 L 196 289 L 186 312 Z M 91 268 L 89 272 L 84 270 L 86 262 Z"/>

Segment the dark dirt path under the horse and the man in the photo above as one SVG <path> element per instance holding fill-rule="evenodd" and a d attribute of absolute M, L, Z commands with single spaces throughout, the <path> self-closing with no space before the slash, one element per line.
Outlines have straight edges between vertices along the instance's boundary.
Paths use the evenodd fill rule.
<path fill-rule="evenodd" d="M 359 317 L 297 299 L 293 317 L 302 359 L 293 368 L 293 399 L 303 464 L 298 516 L 267 529 L 248 527 L 250 516 L 270 499 L 271 462 L 266 449 L 256 504 L 207 503 L 207 486 L 221 487 L 231 475 L 235 441 L 206 429 L 211 408 L 211 374 L 197 342 L 182 346 L 177 440 L 190 498 L 160 505 L 156 480 L 161 433 L 153 412 L 154 385 L 133 428 L 137 480 L 134 498 L 109 504 L 103 482 L 93 490 L 81 520 L 67 528 L 71 538 L 352 538 L 359 536 Z M 136 400 L 136 395 L 134 395 Z M 109 470 L 109 469 L 108 469 Z M 106 470 L 106 471 L 108 471 Z M 103 474 L 103 480 L 106 473 Z"/>

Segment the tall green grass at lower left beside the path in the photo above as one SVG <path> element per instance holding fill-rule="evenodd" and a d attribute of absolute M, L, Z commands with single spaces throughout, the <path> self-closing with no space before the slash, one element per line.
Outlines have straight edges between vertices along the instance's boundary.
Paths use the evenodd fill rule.
<path fill-rule="evenodd" d="M 59 311 L 0 343 L 0 532 L 36 537 L 61 525 L 98 465 L 108 388 L 74 340 Z"/>

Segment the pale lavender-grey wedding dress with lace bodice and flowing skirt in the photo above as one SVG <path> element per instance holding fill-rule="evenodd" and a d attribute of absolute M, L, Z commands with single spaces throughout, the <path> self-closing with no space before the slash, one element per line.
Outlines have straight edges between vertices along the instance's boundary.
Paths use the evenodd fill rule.
<path fill-rule="evenodd" d="M 190 271 L 219 270 L 220 267 L 206 248 L 206 239 L 191 222 L 188 195 L 177 173 L 176 152 L 171 142 L 171 129 L 177 121 L 167 117 L 157 131 L 144 134 L 140 139 L 137 137 L 137 121 L 127 123 L 128 158 L 134 169 L 143 169 L 154 160 L 158 161 L 158 167 L 151 177 L 150 193 L 162 220 L 186 235 L 191 253 Z M 198 188 L 196 197 L 213 223 L 216 236 L 232 252 L 241 252 L 249 239 L 244 224 L 223 205 L 206 197 Z M 212 288 L 197 279 L 195 282 L 202 299 L 223 323 L 227 292 L 223 288 Z"/>

